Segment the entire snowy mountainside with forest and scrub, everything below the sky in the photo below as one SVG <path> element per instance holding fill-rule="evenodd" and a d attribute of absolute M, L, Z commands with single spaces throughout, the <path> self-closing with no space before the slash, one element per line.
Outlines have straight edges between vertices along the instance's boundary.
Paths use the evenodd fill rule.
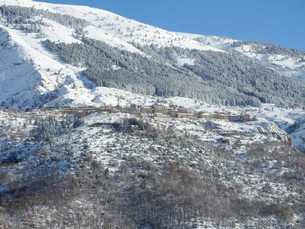
<path fill-rule="evenodd" d="M 0 0 L 0 229 L 302 228 L 302 53 Z"/>

